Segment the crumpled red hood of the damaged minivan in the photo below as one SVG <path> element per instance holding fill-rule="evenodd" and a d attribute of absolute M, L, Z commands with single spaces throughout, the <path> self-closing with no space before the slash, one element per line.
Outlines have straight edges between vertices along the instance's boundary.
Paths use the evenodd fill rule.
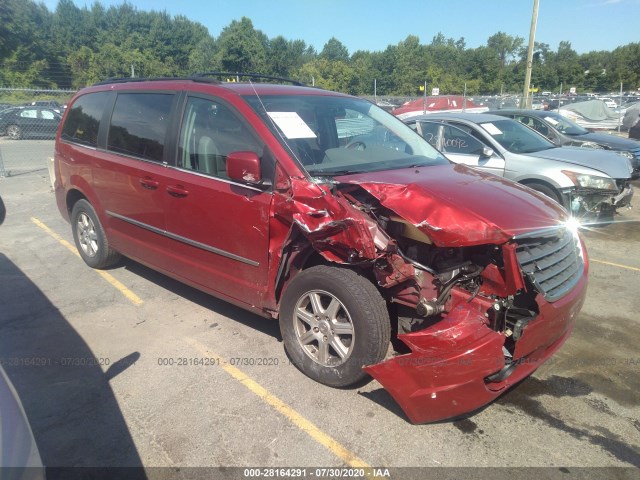
<path fill-rule="evenodd" d="M 438 246 L 502 244 L 561 224 L 565 210 L 527 187 L 465 165 L 336 177 L 369 192 Z"/>

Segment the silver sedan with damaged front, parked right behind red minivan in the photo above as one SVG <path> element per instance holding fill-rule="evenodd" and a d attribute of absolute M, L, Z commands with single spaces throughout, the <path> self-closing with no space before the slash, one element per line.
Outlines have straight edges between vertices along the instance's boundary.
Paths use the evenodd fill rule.
<path fill-rule="evenodd" d="M 439 113 L 407 121 L 456 163 L 527 185 L 585 222 L 608 223 L 633 196 L 629 159 L 558 147 L 522 123 L 492 114 Z"/>

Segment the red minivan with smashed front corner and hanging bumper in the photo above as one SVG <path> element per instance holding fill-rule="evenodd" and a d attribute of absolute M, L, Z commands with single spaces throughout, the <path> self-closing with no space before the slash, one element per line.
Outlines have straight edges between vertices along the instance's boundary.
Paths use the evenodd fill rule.
<path fill-rule="evenodd" d="M 587 286 L 567 212 L 451 164 L 376 105 L 210 77 L 86 88 L 55 146 L 84 261 L 120 255 L 277 318 L 306 375 L 378 380 L 413 422 L 531 374 Z"/>

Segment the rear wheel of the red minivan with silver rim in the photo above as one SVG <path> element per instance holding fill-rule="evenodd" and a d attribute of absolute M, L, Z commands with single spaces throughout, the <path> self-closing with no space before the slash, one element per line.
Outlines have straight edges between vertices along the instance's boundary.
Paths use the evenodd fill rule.
<path fill-rule="evenodd" d="M 107 268 L 120 260 L 109 246 L 96 211 L 86 200 L 78 200 L 71 211 L 73 239 L 84 263 L 92 268 Z"/>

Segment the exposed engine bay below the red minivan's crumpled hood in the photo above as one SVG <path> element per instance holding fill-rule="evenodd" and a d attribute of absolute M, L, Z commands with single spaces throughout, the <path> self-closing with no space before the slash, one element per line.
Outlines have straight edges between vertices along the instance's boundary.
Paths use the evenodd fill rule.
<path fill-rule="evenodd" d="M 515 342 L 538 314 L 537 291 L 518 275 L 524 288 L 507 286 L 503 248 L 498 245 L 439 247 L 415 225 L 383 207 L 372 195 L 353 185 L 337 187 L 357 209 L 373 218 L 385 235 L 386 255 L 373 265 L 377 283 L 394 305 L 397 353 L 409 350 L 397 334 L 420 331 L 437 323 L 461 302 L 478 299 L 487 307 L 486 325 L 505 337 L 505 361 Z M 408 266 L 412 268 L 409 268 Z M 517 268 L 513 263 L 509 268 Z M 516 272 L 511 272 L 514 275 Z M 515 284 L 515 282 L 513 282 Z M 514 287 L 512 285 L 511 287 Z"/>

